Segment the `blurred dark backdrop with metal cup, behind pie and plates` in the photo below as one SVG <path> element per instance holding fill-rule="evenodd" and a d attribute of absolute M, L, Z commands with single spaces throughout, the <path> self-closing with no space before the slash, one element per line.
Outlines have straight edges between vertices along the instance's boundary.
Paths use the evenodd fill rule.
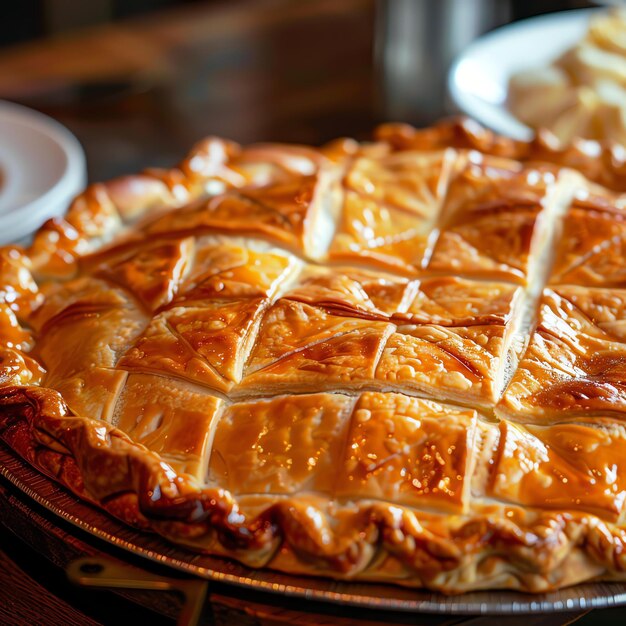
<path fill-rule="evenodd" d="M 89 178 L 171 165 L 199 138 L 319 144 L 451 111 L 480 34 L 585 0 L 20 0 L 0 20 L 0 98 L 65 124 Z M 0 138 L 1 140 L 1 138 Z"/>

